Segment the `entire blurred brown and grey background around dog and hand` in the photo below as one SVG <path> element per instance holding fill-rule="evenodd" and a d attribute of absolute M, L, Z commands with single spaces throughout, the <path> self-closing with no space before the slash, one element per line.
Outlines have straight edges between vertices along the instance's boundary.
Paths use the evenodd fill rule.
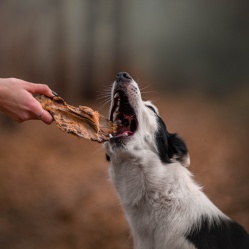
<path fill-rule="evenodd" d="M 119 71 L 143 88 L 211 200 L 249 231 L 247 1 L 1 0 L 0 77 L 107 115 Z M 105 104 L 105 105 L 104 105 Z M 101 145 L 0 114 L 0 248 L 130 249 Z"/>

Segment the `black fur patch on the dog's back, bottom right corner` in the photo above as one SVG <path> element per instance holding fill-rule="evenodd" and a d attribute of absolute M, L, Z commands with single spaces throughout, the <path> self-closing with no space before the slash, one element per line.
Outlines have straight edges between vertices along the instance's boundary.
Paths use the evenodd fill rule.
<path fill-rule="evenodd" d="M 234 221 L 220 220 L 208 223 L 203 217 L 200 227 L 186 236 L 198 249 L 248 249 L 249 235 Z"/>

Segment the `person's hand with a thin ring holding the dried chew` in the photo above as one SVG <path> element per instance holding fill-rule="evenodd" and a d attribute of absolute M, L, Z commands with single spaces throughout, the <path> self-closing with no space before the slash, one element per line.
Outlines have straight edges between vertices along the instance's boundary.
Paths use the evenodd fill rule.
<path fill-rule="evenodd" d="M 51 124 L 53 117 L 42 108 L 32 94 L 54 96 L 47 85 L 29 83 L 15 78 L 0 78 L 0 111 L 18 123 L 40 119 L 46 124 Z"/>

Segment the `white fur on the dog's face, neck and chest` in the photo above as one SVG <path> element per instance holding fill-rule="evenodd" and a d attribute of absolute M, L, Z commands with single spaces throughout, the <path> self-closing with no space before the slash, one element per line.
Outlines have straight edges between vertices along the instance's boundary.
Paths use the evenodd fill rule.
<path fill-rule="evenodd" d="M 115 87 L 116 83 L 112 94 Z M 155 145 L 156 115 L 146 107 L 153 105 L 142 101 L 140 91 L 134 94 L 134 87 L 138 89 L 135 81 L 127 85 L 127 95 L 138 119 L 137 132 L 123 146 L 116 146 L 115 142 L 104 145 L 111 159 L 110 176 L 134 237 L 134 248 L 194 249 L 184 236 L 201 215 L 206 214 L 210 222 L 225 215 L 184 167 L 189 158 L 184 163 L 174 159 L 169 164 L 160 161 Z"/>

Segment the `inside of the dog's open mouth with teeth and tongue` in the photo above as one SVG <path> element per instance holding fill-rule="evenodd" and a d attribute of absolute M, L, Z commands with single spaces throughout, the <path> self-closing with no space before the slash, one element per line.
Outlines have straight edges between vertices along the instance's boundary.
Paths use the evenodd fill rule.
<path fill-rule="evenodd" d="M 119 90 L 114 93 L 110 119 L 118 125 L 114 138 L 132 136 L 136 132 L 138 127 L 136 114 L 124 91 Z"/>

